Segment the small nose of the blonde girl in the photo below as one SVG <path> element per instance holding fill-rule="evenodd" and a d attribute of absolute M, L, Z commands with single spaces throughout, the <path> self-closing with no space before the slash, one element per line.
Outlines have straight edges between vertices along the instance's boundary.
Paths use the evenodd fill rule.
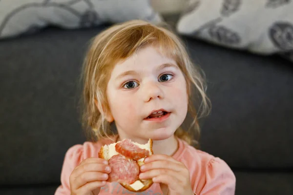
<path fill-rule="evenodd" d="M 145 86 L 143 88 L 144 90 L 143 97 L 145 102 L 148 102 L 156 98 L 160 98 L 160 99 L 164 98 L 164 93 L 159 85 L 160 83 L 156 83 L 156 82 L 145 83 Z"/>

